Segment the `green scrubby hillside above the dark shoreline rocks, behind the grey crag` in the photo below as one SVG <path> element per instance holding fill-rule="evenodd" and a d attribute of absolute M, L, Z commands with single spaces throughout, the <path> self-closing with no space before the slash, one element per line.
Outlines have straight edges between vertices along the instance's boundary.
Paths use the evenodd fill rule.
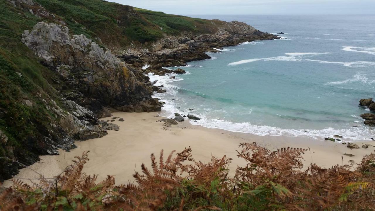
<path fill-rule="evenodd" d="M 169 15 L 103 0 L 35 0 L 68 24 L 73 34 L 100 37 L 109 47 L 144 44 L 181 32 L 212 33 L 212 21 Z"/>

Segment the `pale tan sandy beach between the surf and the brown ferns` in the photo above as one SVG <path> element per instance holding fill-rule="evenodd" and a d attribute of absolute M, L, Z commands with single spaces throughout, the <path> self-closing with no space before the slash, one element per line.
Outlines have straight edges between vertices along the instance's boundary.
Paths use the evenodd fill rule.
<path fill-rule="evenodd" d="M 185 147 L 191 146 L 195 160 L 210 161 L 211 153 L 216 157 L 233 158 L 229 169 L 234 175 L 237 165 L 243 166 L 245 161 L 237 157 L 236 149 L 243 142 L 257 142 L 270 150 L 284 147 L 310 148 L 304 155 L 305 166 L 316 163 L 321 167 L 329 168 L 336 164 L 347 164 L 349 160 L 359 162 L 363 155 L 370 154 L 375 149 L 374 140 L 356 142 L 359 149 L 348 149 L 342 143 L 312 139 L 309 137 L 287 137 L 287 136 L 256 136 L 252 134 L 234 133 L 220 129 L 209 129 L 198 125 L 191 125 L 188 121 L 172 125 L 163 130 L 163 122 L 157 122 L 163 117 L 154 113 L 113 113 L 112 117 L 123 118 L 120 122 L 116 119 L 115 124 L 120 131 L 108 131 L 108 135 L 100 139 L 91 139 L 83 142 L 76 142 L 77 149 L 65 152 L 60 149 L 60 155 L 46 155 L 40 157 L 40 162 L 31 165 L 29 168 L 20 170 L 15 178 L 27 179 L 38 178 L 33 171 L 37 171 L 46 178 L 51 178 L 63 172 L 66 166 L 72 163 L 75 156 L 90 151 L 89 162 L 84 167 L 84 172 L 89 175 L 98 174 L 98 179 L 104 179 L 107 175 L 113 175 L 117 184 L 133 181 L 134 171 L 141 170 L 141 164 L 147 166 L 150 163 L 150 155 L 154 153 L 159 156 L 160 150 L 164 150 L 165 156 L 173 150 L 180 152 Z M 334 135 L 334 134 L 332 134 Z M 345 141 L 345 139 L 342 139 Z M 371 144 L 367 149 L 362 148 L 364 144 Z M 354 157 L 343 155 L 344 153 L 354 154 Z M 344 161 L 342 161 L 342 157 Z M 33 169 L 33 170 L 31 170 Z M 304 169 L 302 169 L 304 170 Z M 10 180 L 3 184 L 12 185 Z"/>

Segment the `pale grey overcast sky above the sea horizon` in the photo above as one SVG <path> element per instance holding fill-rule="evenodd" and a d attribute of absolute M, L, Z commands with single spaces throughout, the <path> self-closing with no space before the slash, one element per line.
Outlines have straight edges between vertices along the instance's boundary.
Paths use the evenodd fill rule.
<path fill-rule="evenodd" d="M 375 14 L 375 0 L 109 0 L 177 15 Z"/>

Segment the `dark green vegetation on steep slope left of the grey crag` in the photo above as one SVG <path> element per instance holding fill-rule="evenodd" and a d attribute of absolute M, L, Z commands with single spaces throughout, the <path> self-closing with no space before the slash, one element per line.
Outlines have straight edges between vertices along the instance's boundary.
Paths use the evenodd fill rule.
<path fill-rule="evenodd" d="M 31 164 L 38 159 L 33 138 L 38 129 L 50 127 L 49 121 L 54 119 L 36 93 L 45 92 L 58 102 L 57 91 L 51 86 L 57 76 L 20 42 L 23 31 L 42 20 L 6 0 L 0 3 L 0 130 L 9 138 L 7 143 L 0 143 L 0 157 L 18 157 Z M 33 106 L 26 105 L 26 100 Z M 12 165 L 0 159 L 0 166 L 2 181 L 10 176 L 7 167 Z"/>

